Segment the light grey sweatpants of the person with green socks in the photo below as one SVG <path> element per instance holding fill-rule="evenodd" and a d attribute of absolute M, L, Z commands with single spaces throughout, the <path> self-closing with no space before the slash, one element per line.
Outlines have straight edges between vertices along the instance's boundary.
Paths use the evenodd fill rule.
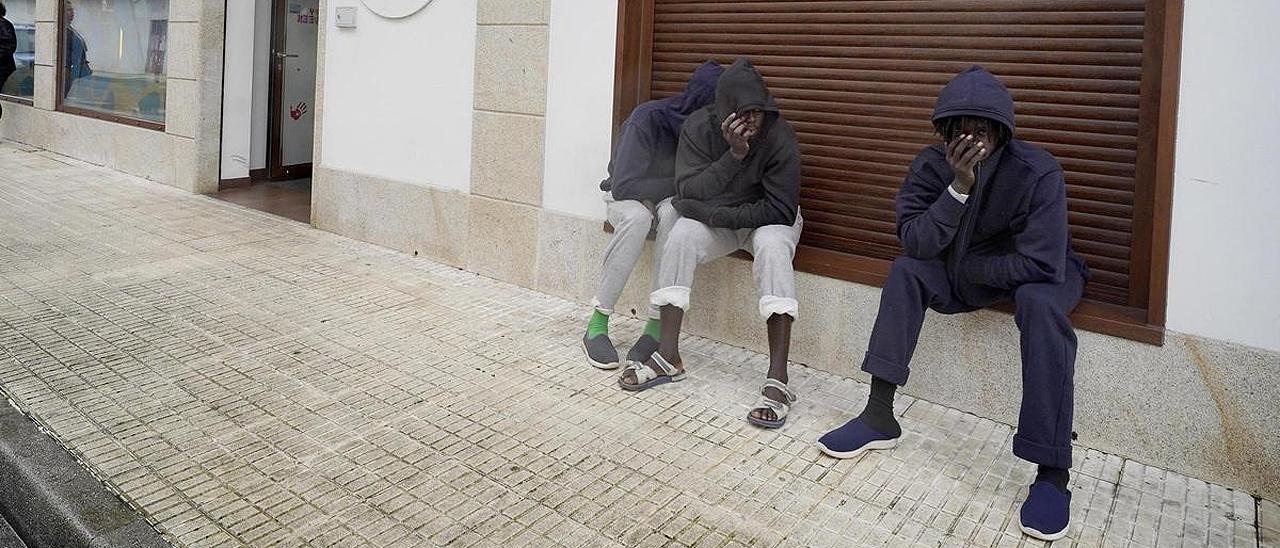
<path fill-rule="evenodd" d="M 658 216 L 658 238 L 654 242 L 653 275 L 650 277 L 653 289 L 658 286 L 658 273 L 662 265 L 662 246 L 667 241 L 667 233 L 680 219 L 680 213 L 671 206 L 671 198 L 663 200 L 657 206 L 636 200 L 614 201 L 608 192 L 604 193 L 604 202 L 608 205 L 609 224 L 613 225 L 613 238 L 604 247 L 604 268 L 600 271 L 600 289 L 595 293 L 593 305 L 604 314 L 613 314 L 613 307 L 618 303 L 618 296 L 631 277 L 640 254 L 644 251 L 644 241 L 653 227 L 653 218 Z M 649 309 L 649 318 L 658 318 L 658 307 Z"/>

